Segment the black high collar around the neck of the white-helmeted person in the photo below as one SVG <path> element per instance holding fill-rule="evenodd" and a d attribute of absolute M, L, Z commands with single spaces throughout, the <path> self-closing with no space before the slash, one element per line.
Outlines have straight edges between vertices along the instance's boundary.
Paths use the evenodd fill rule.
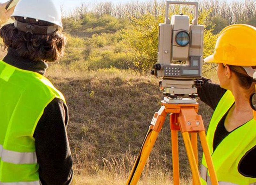
<path fill-rule="evenodd" d="M 13 49 L 8 48 L 8 53 L 4 57 L 3 61 L 14 67 L 18 67 L 23 70 L 33 71 L 44 75 L 48 65 L 43 61 L 33 61 L 28 58 L 20 57 L 19 53 Z"/>

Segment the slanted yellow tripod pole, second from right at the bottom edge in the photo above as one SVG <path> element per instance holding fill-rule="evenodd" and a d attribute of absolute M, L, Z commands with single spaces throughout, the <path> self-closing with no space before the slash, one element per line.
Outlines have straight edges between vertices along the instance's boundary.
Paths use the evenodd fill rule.
<path fill-rule="evenodd" d="M 196 158 L 195 158 L 195 155 L 193 152 L 189 134 L 188 134 L 188 132 L 183 132 L 182 136 L 183 136 L 183 140 L 184 140 L 185 147 L 186 147 L 187 154 L 188 154 L 188 161 L 189 161 L 191 171 L 192 171 L 193 182 L 195 183 L 195 185 L 201 185 L 199 171 L 198 171 L 198 167 L 196 165 Z"/>

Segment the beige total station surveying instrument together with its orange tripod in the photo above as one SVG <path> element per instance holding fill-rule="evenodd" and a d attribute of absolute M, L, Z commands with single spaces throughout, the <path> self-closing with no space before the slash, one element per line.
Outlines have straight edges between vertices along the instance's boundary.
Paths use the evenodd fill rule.
<path fill-rule="evenodd" d="M 195 16 L 189 25 L 187 15 L 172 15 L 169 19 L 171 4 L 195 6 Z M 173 184 L 180 184 L 178 131 L 182 133 L 188 160 L 192 171 L 193 184 L 199 185 L 197 134 L 207 161 L 212 185 L 217 185 L 217 176 L 213 168 L 211 154 L 207 145 L 204 123 L 198 115 L 197 88 L 202 81 L 204 26 L 198 25 L 197 2 L 166 2 L 165 23 L 159 24 L 158 63 L 152 74 L 161 77 L 160 90 L 164 93 L 162 107 L 155 113 L 146 137 L 142 143 L 138 158 L 126 185 L 135 185 L 161 131 L 167 114 L 170 114 L 172 139 Z M 189 135 L 190 134 L 190 135 Z M 190 138 L 191 136 L 191 138 Z"/>

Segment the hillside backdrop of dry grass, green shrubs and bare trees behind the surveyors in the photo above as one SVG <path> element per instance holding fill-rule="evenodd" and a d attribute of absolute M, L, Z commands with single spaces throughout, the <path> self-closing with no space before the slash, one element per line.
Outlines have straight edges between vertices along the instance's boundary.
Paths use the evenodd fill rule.
<path fill-rule="evenodd" d="M 204 57 L 214 51 L 218 33 L 224 27 L 234 23 L 256 25 L 255 3 L 255 0 L 200 1 L 198 23 L 206 28 Z M 171 11 L 173 14 L 182 11 L 191 17 L 191 10 L 174 8 Z M 164 14 L 164 1 L 127 4 L 120 1 L 118 5 L 93 1 L 82 3 L 63 18 L 68 40 L 65 56 L 59 63 L 50 64 L 46 76 L 67 99 L 68 137 L 75 172 L 73 184 L 125 184 L 163 98 L 158 88 L 159 79 L 141 73 L 151 70 L 157 62 L 158 28 Z M 0 39 L 0 46 L 3 45 Z M 6 51 L 1 51 L 0 58 L 3 58 Z M 203 67 L 203 71 L 207 71 L 212 65 Z M 214 69 L 204 76 L 217 81 Z M 203 102 L 199 104 L 199 114 L 207 129 L 212 110 Z M 180 184 L 191 184 L 181 136 L 179 154 Z M 201 158 L 199 147 L 199 162 Z M 139 184 L 172 184 L 169 118 Z"/>

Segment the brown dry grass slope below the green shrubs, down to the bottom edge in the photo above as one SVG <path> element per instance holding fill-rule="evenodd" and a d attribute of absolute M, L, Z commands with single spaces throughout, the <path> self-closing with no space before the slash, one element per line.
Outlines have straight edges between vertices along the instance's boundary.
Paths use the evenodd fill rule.
<path fill-rule="evenodd" d="M 158 79 L 132 71 L 100 69 L 69 71 L 51 65 L 47 76 L 67 98 L 68 134 L 75 164 L 73 184 L 125 184 L 152 116 L 162 98 Z M 200 103 L 208 124 L 212 111 Z M 172 150 L 168 119 L 161 131 L 140 184 L 170 184 Z M 181 137 L 181 184 L 191 178 Z M 199 148 L 201 159 L 201 148 Z"/>

